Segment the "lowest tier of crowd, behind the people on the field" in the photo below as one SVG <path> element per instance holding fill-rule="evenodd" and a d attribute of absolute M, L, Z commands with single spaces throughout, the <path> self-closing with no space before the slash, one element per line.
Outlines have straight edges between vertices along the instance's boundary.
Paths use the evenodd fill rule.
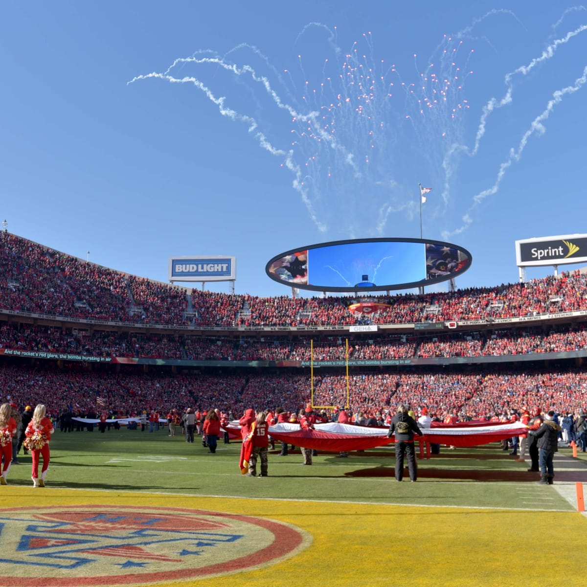
<path fill-rule="evenodd" d="M 72 366 L 60 370 L 55 363 L 42 367 L 4 366 L 0 369 L 2 401 L 19 406 L 43 402 L 52 414 L 65 406 L 87 413 L 100 409 L 100 398 L 109 410 L 125 416 L 142 411 L 209 409 L 241 414 L 254 406 L 282 406 L 299 411 L 315 406 L 349 406 L 366 414 L 393 409 L 397 403 L 426 407 L 441 417 L 461 419 L 491 417 L 523 406 L 578 413 L 587 405 L 587 373 L 581 369 L 554 372 L 538 369 L 503 370 L 491 367 L 475 373 L 361 373 L 321 375 L 262 373 L 131 373 L 87 371 Z"/>

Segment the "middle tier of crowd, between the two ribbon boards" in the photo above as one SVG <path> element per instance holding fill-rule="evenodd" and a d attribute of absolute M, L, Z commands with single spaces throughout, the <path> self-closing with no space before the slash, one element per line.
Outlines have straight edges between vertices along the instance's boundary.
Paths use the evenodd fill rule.
<path fill-rule="evenodd" d="M 455 333 L 442 336 L 394 336 L 348 341 L 323 336 L 317 340 L 257 340 L 113 333 L 16 323 L 0 326 L 0 349 L 62 352 L 100 357 L 137 357 L 185 360 L 379 360 L 413 357 L 479 357 L 569 352 L 587 349 L 585 325 L 525 330 Z"/>

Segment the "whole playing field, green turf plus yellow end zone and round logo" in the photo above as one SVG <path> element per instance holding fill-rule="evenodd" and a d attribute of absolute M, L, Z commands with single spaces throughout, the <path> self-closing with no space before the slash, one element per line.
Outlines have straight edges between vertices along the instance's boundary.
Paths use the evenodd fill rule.
<path fill-rule="evenodd" d="M 302 464 L 299 450 L 287 457 L 270 451 L 267 478 L 241 475 L 239 451 L 239 443 L 221 440 L 211 454 L 200 438 L 187 444 L 181 436 L 168 437 L 166 430 L 57 431 L 46 488 L 32 487 L 31 457 L 22 453 L 9 485 L 0 487 L 6 524 L 18 528 L 12 542 L 5 541 L 6 528 L 1 534 L 5 549 L 14 554 L 0 555 L 8 561 L 0 565 L 6 569 L 0 571 L 0 585 L 23 585 L 25 577 L 30 585 L 185 585 L 226 573 L 225 580 L 235 585 L 291 585 L 308 565 L 340 569 L 329 572 L 326 583 L 311 573 L 308 585 L 379 585 L 398 580 L 399 569 L 403 585 L 425 585 L 426 577 L 438 573 L 450 573 L 454 585 L 555 585 L 556 575 L 545 577 L 544 565 L 571 561 L 575 548 L 568 537 L 587 529 L 576 502 L 576 482 L 587 482 L 587 464 L 581 453 L 574 459 L 567 448 L 555 460 L 555 485 L 545 487 L 534 483 L 538 476 L 527 472 L 528 461 L 516 461 L 497 443 L 452 451 L 443 447 L 440 455 L 419 461 L 417 483 L 410 483 L 407 474 L 403 483 L 394 480 L 389 448 L 350 453 L 349 458 L 321 454 L 311 466 Z M 117 537 L 128 541 L 144 535 L 143 529 L 128 534 L 136 519 L 153 512 L 195 515 L 195 527 L 216 527 L 218 517 L 230 518 L 231 524 L 238 518 L 245 527 L 238 526 L 234 536 L 239 539 L 222 549 L 200 539 L 201 552 L 167 551 L 165 544 L 155 548 L 154 541 L 132 547 L 123 542 L 107 548 L 101 542 L 100 548 L 71 546 L 89 542 L 80 541 L 86 534 L 95 541 L 111 539 L 106 522 L 94 532 L 81 520 L 118 524 L 128 518 L 127 534 Z M 75 539 L 68 535 L 64 541 L 56 534 L 65 532 L 59 525 L 31 526 L 35 516 L 43 523 L 75 521 Z M 41 531 L 52 532 L 50 539 L 35 534 Z M 122 531 L 118 525 L 116 531 Z M 182 575 L 176 569 L 194 552 L 190 564 L 200 570 Z M 72 556 L 75 570 L 69 568 Z M 512 572 L 512 559 L 523 566 L 519 574 Z M 147 568 L 146 578 L 140 573 Z"/>

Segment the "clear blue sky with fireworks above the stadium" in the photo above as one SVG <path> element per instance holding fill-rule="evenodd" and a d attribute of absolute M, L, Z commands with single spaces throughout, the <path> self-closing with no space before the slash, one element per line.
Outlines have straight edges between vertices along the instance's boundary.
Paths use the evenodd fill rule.
<path fill-rule="evenodd" d="M 587 232 L 582 6 L 9 1 L 0 39 L 0 220 L 101 265 L 234 255 L 237 293 L 288 295 L 282 251 L 419 237 L 419 183 L 461 288 Z"/>

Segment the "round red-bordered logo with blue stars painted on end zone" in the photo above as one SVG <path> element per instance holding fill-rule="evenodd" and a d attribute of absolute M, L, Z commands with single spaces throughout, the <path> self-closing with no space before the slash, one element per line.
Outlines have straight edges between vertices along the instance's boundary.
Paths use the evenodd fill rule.
<path fill-rule="evenodd" d="M 0 510 L 0 585 L 121 585 L 244 571 L 296 554 L 302 531 L 273 520 L 180 508 Z"/>

